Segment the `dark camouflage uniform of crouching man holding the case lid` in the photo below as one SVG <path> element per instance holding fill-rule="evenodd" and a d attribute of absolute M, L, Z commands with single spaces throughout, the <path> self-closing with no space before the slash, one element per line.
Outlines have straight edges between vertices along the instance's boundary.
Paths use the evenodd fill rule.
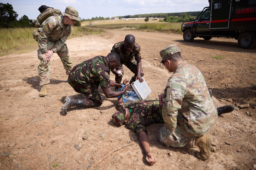
<path fill-rule="evenodd" d="M 111 52 L 115 52 L 120 57 L 120 65 L 116 67 L 116 70 L 120 70 L 124 74 L 123 64 L 128 67 L 134 73 L 131 81 L 135 81 L 137 77 L 137 62 L 141 61 L 141 47 L 135 42 L 133 47 L 133 52 L 128 52 L 124 48 L 124 41 L 116 43 Z M 143 76 L 143 70 L 141 69 L 141 76 Z M 121 83 L 123 75 L 115 75 L 115 82 Z"/>

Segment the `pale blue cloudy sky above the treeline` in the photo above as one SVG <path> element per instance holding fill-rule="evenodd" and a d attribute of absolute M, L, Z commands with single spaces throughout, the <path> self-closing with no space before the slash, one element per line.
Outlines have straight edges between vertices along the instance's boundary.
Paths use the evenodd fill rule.
<path fill-rule="evenodd" d="M 72 6 L 79 12 L 81 19 L 92 17 L 116 17 L 136 14 L 172 13 L 202 11 L 209 6 L 208 0 L 1 0 L 1 3 L 11 4 L 18 14 L 17 19 L 26 15 L 36 19 L 40 14 L 38 8 L 46 5 L 65 11 L 66 6 Z"/>

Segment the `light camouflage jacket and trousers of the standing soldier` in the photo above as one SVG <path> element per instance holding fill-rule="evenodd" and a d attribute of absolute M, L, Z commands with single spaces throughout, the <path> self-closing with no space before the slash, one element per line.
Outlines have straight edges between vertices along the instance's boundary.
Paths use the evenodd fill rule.
<path fill-rule="evenodd" d="M 69 50 L 65 44 L 66 39 L 71 34 L 73 28 L 71 25 L 64 25 L 64 16 L 55 15 L 47 18 L 43 22 L 43 29 L 38 36 L 38 75 L 40 76 L 40 86 L 49 84 L 49 64 L 43 61 L 43 54 L 47 50 L 53 50 L 61 58 L 66 74 L 69 74 L 72 68 L 72 61 L 69 57 Z"/>

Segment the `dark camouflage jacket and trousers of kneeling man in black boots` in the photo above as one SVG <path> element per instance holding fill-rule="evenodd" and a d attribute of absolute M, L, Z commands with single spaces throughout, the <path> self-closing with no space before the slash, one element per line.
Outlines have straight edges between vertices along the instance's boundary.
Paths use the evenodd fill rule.
<path fill-rule="evenodd" d="M 110 88 L 110 66 L 106 57 L 96 56 L 72 68 L 68 83 L 78 93 L 86 96 L 83 99 L 84 107 L 96 107 L 102 104 L 101 95 L 97 88 Z"/>

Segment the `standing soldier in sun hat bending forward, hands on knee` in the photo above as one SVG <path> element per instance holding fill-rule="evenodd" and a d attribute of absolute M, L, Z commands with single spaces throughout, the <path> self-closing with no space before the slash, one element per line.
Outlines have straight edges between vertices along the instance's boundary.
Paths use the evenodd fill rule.
<path fill-rule="evenodd" d="M 76 20 L 80 21 L 78 11 L 67 6 L 64 14 L 50 16 L 42 23 L 43 28 L 38 36 L 38 59 L 40 60 L 38 75 L 41 80 L 39 96 L 47 96 L 47 84 L 50 83 L 49 64 L 53 53 L 57 53 L 61 58 L 66 74 L 70 73 L 72 61 L 65 41 L 71 34 Z"/>

